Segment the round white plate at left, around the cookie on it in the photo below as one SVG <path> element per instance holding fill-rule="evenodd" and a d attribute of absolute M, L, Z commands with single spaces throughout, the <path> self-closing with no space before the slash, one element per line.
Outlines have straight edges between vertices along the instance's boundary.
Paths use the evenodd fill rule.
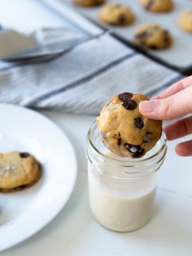
<path fill-rule="evenodd" d="M 20 243 L 49 223 L 68 201 L 77 174 L 66 135 L 36 111 L 0 104 L 0 151 L 27 151 L 43 165 L 33 187 L 0 193 L 0 251 Z"/>

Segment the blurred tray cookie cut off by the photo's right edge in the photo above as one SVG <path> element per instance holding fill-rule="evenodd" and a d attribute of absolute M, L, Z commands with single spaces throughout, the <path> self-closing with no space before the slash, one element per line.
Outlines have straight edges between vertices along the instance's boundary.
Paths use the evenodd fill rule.
<path fill-rule="evenodd" d="M 179 16 L 179 26 L 190 33 L 192 33 L 192 9 L 182 11 Z"/>

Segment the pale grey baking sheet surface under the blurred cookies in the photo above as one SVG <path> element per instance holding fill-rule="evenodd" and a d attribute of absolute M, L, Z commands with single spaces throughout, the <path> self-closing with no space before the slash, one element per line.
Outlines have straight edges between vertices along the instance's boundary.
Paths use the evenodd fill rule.
<path fill-rule="evenodd" d="M 60 0 L 67 3 L 70 7 L 75 8 L 78 12 L 86 15 L 91 20 L 97 22 L 102 27 L 113 30 L 117 35 L 132 42 L 135 29 L 145 23 L 158 23 L 168 29 L 173 36 L 173 44 L 166 50 L 146 50 L 156 59 L 171 65 L 176 69 L 187 70 L 192 68 L 192 34 L 187 33 L 179 28 L 178 17 L 182 10 L 192 9 L 191 0 L 173 0 L 174 9 L 168 13 L 148 12 L 139 4 L 139 1 L 133 0 L 116 0 L 113 2 L 126 4 L 135 14 L 135 21 L 131 26 L 109 26 L 99 21 L 98 12 L 102 5 L 97 7 L 82 7 L 73 4 L 73 0 Z M 108 1 L 110 2 L 110 1 Z"/>

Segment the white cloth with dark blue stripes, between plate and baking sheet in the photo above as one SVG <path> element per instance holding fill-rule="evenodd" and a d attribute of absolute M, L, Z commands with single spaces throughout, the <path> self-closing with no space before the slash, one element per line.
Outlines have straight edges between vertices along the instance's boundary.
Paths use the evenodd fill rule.
<path fill-rule="evenodd" d="M 115 94 L 152 97 L 181 78 L 104 34 L 51 61 L 0 65 L 0 102 L 98 115 Z"/>

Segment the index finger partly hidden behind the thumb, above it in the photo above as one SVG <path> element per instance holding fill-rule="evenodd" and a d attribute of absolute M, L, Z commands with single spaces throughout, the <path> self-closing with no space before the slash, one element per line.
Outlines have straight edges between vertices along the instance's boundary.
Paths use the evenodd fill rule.
<path fill-rule="evenodd" d="M 192 75 L 181 79 L 177 83 L 174 83 L 168 89 L 159 93 L 158 95 L 156 95 L 155 97 L 153 97 L 151 99 L 164 99 L 164 98 L 169 97 L 183 89 L 186 89 L 190 85 L 192 85 Z"/>

